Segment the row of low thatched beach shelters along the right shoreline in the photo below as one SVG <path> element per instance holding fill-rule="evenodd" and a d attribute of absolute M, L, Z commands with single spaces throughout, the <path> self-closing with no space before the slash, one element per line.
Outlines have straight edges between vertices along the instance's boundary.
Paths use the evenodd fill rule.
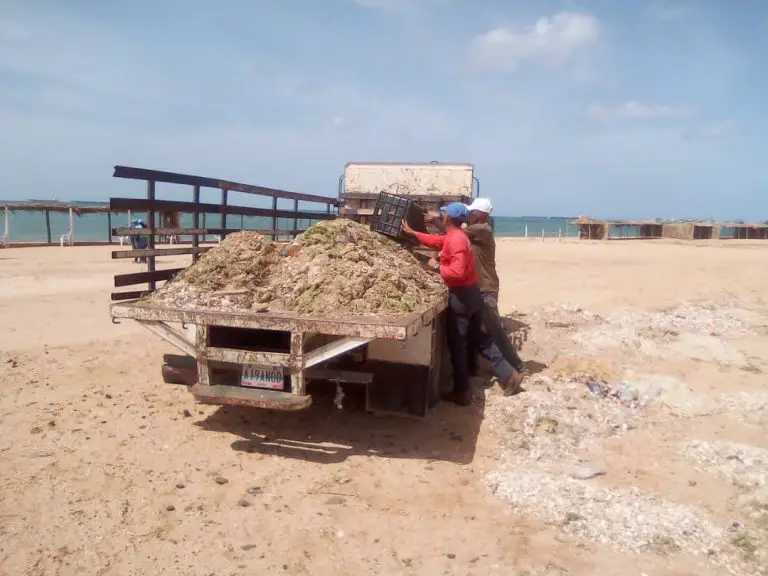
<path fill-rule="evenodd" d="M 768 223 L 598 220 L 580 216 L 569 225 L 578 227 L 581 240 L 768 240 Z"/>

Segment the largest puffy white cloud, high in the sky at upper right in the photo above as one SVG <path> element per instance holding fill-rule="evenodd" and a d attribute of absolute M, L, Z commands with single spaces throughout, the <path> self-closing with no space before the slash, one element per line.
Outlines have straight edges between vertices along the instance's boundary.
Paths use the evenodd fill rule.
<path fill-rule="evenodd" d="M 560 12 L 525 29 L 496 28 L 472 41 L 474 61 L 484 68 L 514 70 L 527 61 L 561 65 L 595 44 L 600 24 L 590 14 Z"/>

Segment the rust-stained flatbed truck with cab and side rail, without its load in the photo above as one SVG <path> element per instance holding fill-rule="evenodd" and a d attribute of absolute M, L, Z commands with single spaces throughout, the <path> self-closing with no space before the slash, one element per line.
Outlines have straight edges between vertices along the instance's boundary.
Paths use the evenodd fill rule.
<path fill-rule="evenodd" d="M 477 183 L 471 164 L 348 163 L 335 198 L 126 166 L 115 167 L 114 176 L 146 183 L 146 199 L 111 198 L 110 208 L 146 212 L 148 228 L 140 232 L 149 245 L 144 250 L 112 252 L 115 259 L 146 258 L 147 270 L 114 277 L 116 288 L 146 287 L 113 292 L 110 316 L 114 323 L 137 322 L 178 350 L 179 354 L 164 356 L 166 383 L 187 386 L 201 403 L 273 410 L 308 408 L 312 403 L 308 385 L 315 380 L 335 384 L 338 406 L 344 386 L 357 385 L 365 388 L 368 411 L 415 417 L 426 416 L 443 389 L 450 387 L 445 298 L 407 316 L 314 317 L 172 308 L 145 296 L 183 270 L 158 269 L 157 258 L 189 254 L 194 262 L 210 249 L 201 239 L 244 229 L 228 226 L 228 218 L 266 217 L 271 228 L 256 231 L 279 240 L 301 233 L 300 222 L 342 216 L 367 223 L 381 191 L 410 195 L 425 208 L 437 209 L 446 202 L 471 199 Z M 157 183 L 191 187 L 192 201 L 158 199 Z M 204 188 L 218 189 L 220 201 L 201 202 Z M 272 207 L 234 205 L 232 192 L 270 198 Z M 278 200 L 292 201 L 293 209 L 278 209 Z M 324 204 L 325 210 L 301 210 L 300 202 Z M 192 214 L 192 227 L 161 227 L 157 216 L 168 212 Z M 211 215 L 218 216 L 219 227 L 201 226 L 201 216 Z M 280 227 L 281 220 L 292 222 L 291 227 Z M 115 236 L 137 233 L 130 228 L 113 230 Z M 156 239 L 169 235 L 179 243 L 155 247 Z"/>

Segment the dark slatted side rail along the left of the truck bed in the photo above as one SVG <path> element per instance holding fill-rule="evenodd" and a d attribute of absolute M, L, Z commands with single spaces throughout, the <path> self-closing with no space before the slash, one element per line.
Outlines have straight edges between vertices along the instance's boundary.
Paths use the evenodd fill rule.
<path fill-rule="evenodd" d="M 158 256 L 171 256 L 179 254 L 191 254 L 192 261 L 197 260 L 199 255 L 210 247 L 200 246 L 201 236 L 216 235 L 220 238 L 225 237 L 232 232 L 246 228 L 233 228 L 227 226 L 228 216 L 240 216 L 241 226 L 242 218 L 245 216 L 260 216 L 271 218 L 272 227 L 269 230 L 254 230 L 265 235 L 269 235 L 273 240 L 278 236 L 296 236 L 303 230 L 299 226 L 299 220 L 331 220 L 336 218 L 336 208 L 338 198 L 330 196 L 316 196 L 300 192 L 289 192 L 278 190 L 276 188 L 267 188 L 265 186 L 254 186 L 251 184 L 242 184 L 231 182 L 218 178 L 207 178 L 203 176 L 194 176 L 191 174 L 179 174 L 176 172 L 163 172 L 159 170 L 147 170 L 144 168 L 134 168 L 130 166 L 115 166 L 113 176 L 115 178 L 127 178 L 132 180 L 144 180 L 147 184 L 146 198 L 110 198 L 109 210 L 116 211 L 140 211 L 147 213 L 147 225 L 145 229 L 134 230 L 130 228 L 114 228 L 114 236 L 146 236 L 148 245 L 141 250 L 116 250 L 112 252 L 112 258 L 144 258 L 146 259 L 146 272 L 136 272 L 130 274 L 118 274 L 115 276 L 114 285 L 116 288 L 133 286 L 136 284 L 147 284 L 143 290 L 132 290 L 129 292 L 113 292 L 112 300 L 135 300 L 157 288 L 157 283 L 172 279 L 183 268 L 172 268 L 158 270 L 156 258 Z M 192 201 L 179 200 L 160 200 L 156 197 L 156 184 L 158 182 L 168 184 L 188 185 L 192 187 Z M 221 191 L 221 201 L 219 203 L 200 202 L 200 191 L 202 188 L 215 188 Z M 272 198 L 271 208 L 256 208 L 253 206 L 238 206 L 229 202 L 229 192 L 240 192 L 244 194 L 254 194 L 257 196 L 266 196 Z M 287 199 L 293 201 L 293 209 L 278 209 L 277 201 Z M 299 202 L 312 202 L 316 204 L 325 204 L 325 212 L 312 212 L 299 210 Z M 183 228 L 178 225 L 179 214 L 192 214 L 193 226 Z M 200 215 L 202 214 L 202 226 Z M 220 217 L 220 226 L 218 228 L 208 228 L 205 224 L 206 215 L 216 214 Z M 158 216 L 164 215 L 173 220 L 172 225 L 162 225 L 158 222 Z M 278 229 L 278 218 L 293 220 L 293 226 L 290 230 Z M 164 218 L 165 220 L 165 218 Z M 175 224 L 175 225 L 174 225 Z M 180 236 L 192 236 L 191 248 L 168 248 L 158 249 L 156 244 L 163 237 L 176 238 Z"/>

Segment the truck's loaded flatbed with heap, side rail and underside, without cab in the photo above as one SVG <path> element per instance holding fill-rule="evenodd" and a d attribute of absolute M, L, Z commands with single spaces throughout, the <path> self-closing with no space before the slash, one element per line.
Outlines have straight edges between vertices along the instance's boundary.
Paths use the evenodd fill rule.
<path fill-rule="evenodd" d="M 115 276 L 115 286 L 147 283 L 144 290 L 114 292 L 110 314 L 141 326 L 173 345 L 163 379 L 188 386 L 208 404 L 300 410 L 312 403 L 308 386 L 363 386 L 370 411 L 425 416 L 450 386 L 445 353 L 447 296 L 436 276 L 403 246 L 349 220 L 337 220 L 327 197 L 237 184 L 184 174 L 119 167 L 115 175 L 145 179 L 147 199 L 112 199 L 111 205 L 146 210 L 146 250 L 118 250 L 113 258 L 147 257 L 147 271 Z M 155 182 L 192 187 L 192 202 L 157 200 Z M 201 187 L 218 187 L 219 204 L 201 203 Z M 273 209 L 233 205 L 228 192 L 272 196 Z M 276 200 L 291 198 L 293 211 Z M 298 202 L 327 210 L 299 210 Z M 159 227 L 163 210 L 194 214 L 194 228 Z M 218 213 L 220 228 L 200 226 Z M 227 227 L 233 215 L 272 218 L 270 230 Z M 280 218 L 293 217 L 292 229 Z M 300 230 L 301 218 L 320 223 Z M 123 229 L 117 229 L 120 232 Z M 130 231 L 128 231 L 130 233 Z M 156 247 L 162 235 L 192 236 L 191 247 Z M 202 245 L 218 234 L 218 246 Z M 298 235 L 276 242 L 277 235 Z M 269 236 L 272 236 L 270 240 Z M 188 268 L 157 268 L 157 258 L 191 254 Z M 198 261 L 199 258 L 199 261 Z M 158 286 L 158 282 L 165 282 Z"/>

